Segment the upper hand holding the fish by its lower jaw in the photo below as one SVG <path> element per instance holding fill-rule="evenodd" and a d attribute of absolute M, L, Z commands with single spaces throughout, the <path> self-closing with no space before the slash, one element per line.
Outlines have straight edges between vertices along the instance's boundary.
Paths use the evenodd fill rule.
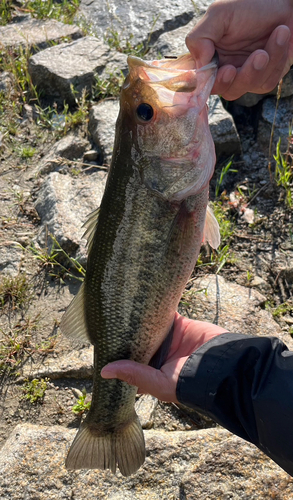
<path fill-rule="evenodd" d="M 197 67 L 218 52 L 213 94 L 234 100 L 270 92 L 293 63 L 293 1 L 216 0 L 186 44 Z"/>

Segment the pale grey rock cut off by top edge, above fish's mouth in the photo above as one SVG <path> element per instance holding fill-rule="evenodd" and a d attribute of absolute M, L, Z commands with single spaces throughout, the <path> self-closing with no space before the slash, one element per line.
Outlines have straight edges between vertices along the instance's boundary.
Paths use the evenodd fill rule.
<path fill-rule="evenodd" d="M 196 7 L 184 0 L 170 0 L 162 5 L 159 0 L 146 3 L 143 0 L 125 2 L 123 0 L 81 0 L 79 12 L 93 24 L 100 36 L 117 33 L 122 42 L 131 44 L 156 40 L 164 31 L 172 31 L 184 26 L 198 12 L 205 12 L 212 0 L 198 0 Z M 122 43 L 123 45 L 123 43 Z"/>

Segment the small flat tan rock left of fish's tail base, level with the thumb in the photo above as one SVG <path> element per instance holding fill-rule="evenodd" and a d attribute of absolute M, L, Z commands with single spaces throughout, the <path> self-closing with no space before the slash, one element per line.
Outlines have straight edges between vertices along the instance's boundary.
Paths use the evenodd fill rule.
<path fill-rule="evenodd" d="M 93 346 L 74 349 L 69 354 L 56 358 L 47 357 L 42 360 L 40 366 L 28 359 L 19 371 L 21 372 L 19 381 L 46 377 L 51 380 L 91 378 L 93 376 Z"/>

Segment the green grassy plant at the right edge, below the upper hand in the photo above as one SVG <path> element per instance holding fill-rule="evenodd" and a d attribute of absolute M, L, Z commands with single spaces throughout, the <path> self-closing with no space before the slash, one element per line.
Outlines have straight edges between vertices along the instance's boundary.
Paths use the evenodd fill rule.
<path fill-rule="evenodd" d="M 292 133 L 289 134 L 289 145 L 291 143 Z M 285 203 L 289 208 L 293 206 L 292 190 L 293 190 L 293 154 L 288 146 L 285 154 L 281 153 L 281 139 L 279 139 L 274 155 L 276 161 L 275 181 L 277 186 L 282 186 L 285 190 Z"/>

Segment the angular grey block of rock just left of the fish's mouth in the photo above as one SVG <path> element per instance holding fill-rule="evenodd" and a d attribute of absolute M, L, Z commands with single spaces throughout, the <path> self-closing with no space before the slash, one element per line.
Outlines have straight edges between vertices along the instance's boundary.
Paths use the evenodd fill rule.
<path fill-rule="evenodd" d="M 75 105 L 82 91 L 91 93 L 95 73 L 100 76 L 126 68 L 126 55 L 111 50 L 95 37 L 61 43 L 38 52 L 29 59 L 33 84 L 51 98 Z"/>

